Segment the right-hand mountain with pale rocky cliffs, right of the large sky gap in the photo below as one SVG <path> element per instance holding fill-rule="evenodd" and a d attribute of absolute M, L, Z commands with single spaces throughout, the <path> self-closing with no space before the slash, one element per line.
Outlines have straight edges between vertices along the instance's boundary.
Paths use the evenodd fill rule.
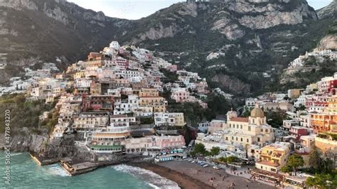
<path fill-rule="evenodd" d="M 328 25 L 302 0 L 200 2 L 142 18 L 121 39 L 199 72 L 212 87 L 252 95 L 278 90 L 280 71 L 316 47 Z M 221 55 L 207 60 L 211 53 Z"/>

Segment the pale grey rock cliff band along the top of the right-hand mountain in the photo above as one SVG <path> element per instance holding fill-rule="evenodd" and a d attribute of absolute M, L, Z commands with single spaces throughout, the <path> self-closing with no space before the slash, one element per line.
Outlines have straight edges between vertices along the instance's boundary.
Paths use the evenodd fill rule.
<path fill-rule="evenodd" d="M 200 29 L 217 31 L 237 40 L 249 29 L 293 25 L 317 15 L 306 1 L 237 1 L 175 4 L 136 23 L 141 30 L 130 31 L 131 43 L 168 38 Z M 193 22 L 193 23 L 192 23 Z M 197 24 L 198 23 L 198 24 Z"/>

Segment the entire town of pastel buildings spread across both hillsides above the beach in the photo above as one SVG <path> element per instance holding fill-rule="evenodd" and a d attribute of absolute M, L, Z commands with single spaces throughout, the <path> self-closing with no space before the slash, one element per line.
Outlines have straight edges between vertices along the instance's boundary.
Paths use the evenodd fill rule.
<path fill-rule="evenodd" d="M 310 168 L 312 151 L 319 151 L 333 162 L 331 168 L 337 166 L 337 73 L 305 89 L 247 98 L 243 111 L 232 109 L 224 119 L 197 126 L 187 125 L 183 112 L 169 112 L 169 101 L 193 102 L 205 109 L 210 92 L 228 100 L 233 96 L 220 88 L 211 90 L 198 73 L 179 70 L 143 48 L 112 41 L 64 72 L 45 63 L 40 70 L 26 68 L 26 77 L 12 78 L 12 87 L 1 92 L 54 103 L 53 112 L 40 116 L 46 121 L 51 114 L 58 115 L 50 133 L 54 142 L 76 133 L 80 134 L 76 145 L 97 154 L 141 154 L 158 163 L 179 158 L 215 169 L 227 163 L 228 173 L 244 171 L 250 179 L 279 187 L 304 188 L 315 176 L 292 173 L 293 157 L 303 161 L 300 168 Z M 274 121 L 267 118 L 271 112 L 284 116 L 282 124 L 269 124 Z M 186 127 L 190 134 L 182 132 Z M 205 158 L 207 151 L 216 153 Z"/>

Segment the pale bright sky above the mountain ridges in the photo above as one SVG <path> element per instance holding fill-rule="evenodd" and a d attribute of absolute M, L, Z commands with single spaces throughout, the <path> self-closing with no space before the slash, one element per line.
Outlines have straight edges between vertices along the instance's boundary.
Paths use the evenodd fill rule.
<path fill-rule="evenodd" d="M 68 0 L 85 9 L 102 11 L 106 16 L 136 20 L 184 0 Z M 321 9 L 333 0 L 307 0 L 314 9 Z"/>

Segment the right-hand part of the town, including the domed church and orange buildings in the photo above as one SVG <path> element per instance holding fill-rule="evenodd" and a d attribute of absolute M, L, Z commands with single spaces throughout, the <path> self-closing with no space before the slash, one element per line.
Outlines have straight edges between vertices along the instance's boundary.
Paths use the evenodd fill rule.
<path fill-rule="evenodd" d="M 220 148 L 219 158 L 235 156 L 255 161 L 251 174 L 261 180 L 304 188 L 306 178 L 312 175 L 289 175 L 282 173 L 282 168 L 294 154 L 304 160 L 302 168 L 310 168 L 311 153 L 317 148 L 333 162 L 331 168 L 336 168 L 336 88 L 337 73 L 305 89 L 248 98 L 245 107 L 250 111 L 249 117 L 238 117 L 237 112 L 230 111 L 226 121 L 200 124 L 203 133 L 198 133 L 196 144 L 203 144 L 208 151 Z M 266 112 L 285 114 L 282 126 L 267 124 Z"/>

